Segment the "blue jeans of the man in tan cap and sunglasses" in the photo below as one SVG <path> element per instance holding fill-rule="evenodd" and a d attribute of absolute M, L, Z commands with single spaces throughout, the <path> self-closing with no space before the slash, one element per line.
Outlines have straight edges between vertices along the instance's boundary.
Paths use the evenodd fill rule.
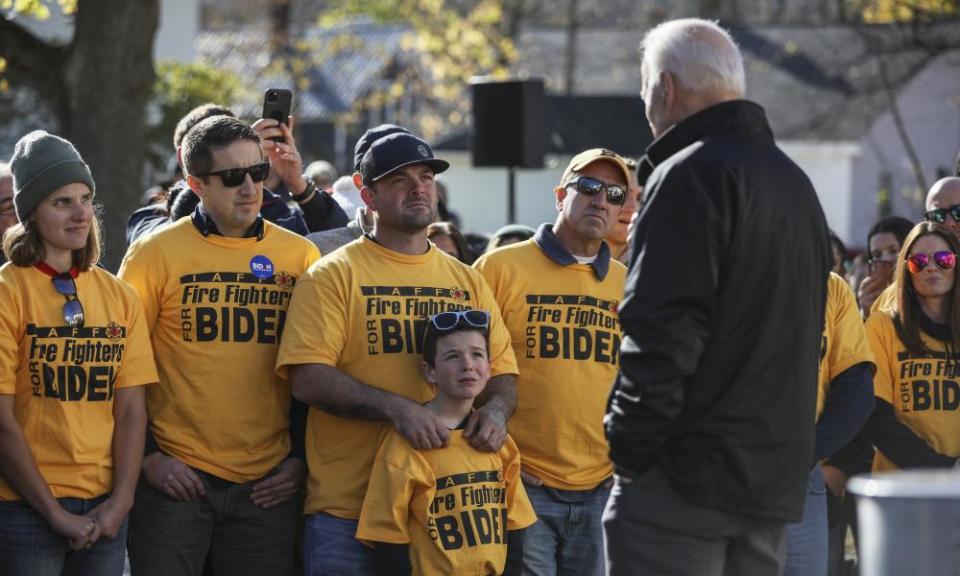
<path fill-rule="evenodd" d="M 524 488 L 537 521 L 526 530 L 523 573 L 601 576 L 605 570 L 603 509 L 610 488 L 598 487 L 589 492 L 530 485 Z"/>

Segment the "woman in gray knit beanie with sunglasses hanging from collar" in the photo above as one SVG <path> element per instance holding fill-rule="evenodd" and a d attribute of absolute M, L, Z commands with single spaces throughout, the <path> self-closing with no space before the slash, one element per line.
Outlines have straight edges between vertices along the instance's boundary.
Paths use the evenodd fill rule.
<path fill-rule="evenodd" d="M 157 381 L 132 288 L 96 267 L 90 169 L 43 131 L 10 162 L 0 268 L 0 574 L 123 573 Z"/>

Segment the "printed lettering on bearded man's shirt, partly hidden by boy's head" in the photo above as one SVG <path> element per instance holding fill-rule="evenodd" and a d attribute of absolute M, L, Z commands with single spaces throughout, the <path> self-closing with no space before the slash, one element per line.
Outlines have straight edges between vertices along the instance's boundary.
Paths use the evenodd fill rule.
<path fill-rule="evenodd" d="M 427 318 L 473 308 L 470 292 L 457 286 L 361 286 L 360 294 L 369 356 L 420 354 Z"/>

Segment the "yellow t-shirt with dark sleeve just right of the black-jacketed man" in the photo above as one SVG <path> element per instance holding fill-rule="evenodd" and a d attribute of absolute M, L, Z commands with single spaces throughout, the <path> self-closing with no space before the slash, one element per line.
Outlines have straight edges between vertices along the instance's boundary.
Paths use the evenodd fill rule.
<path fill-rule="evenodd" d="M 830 394 L 830 382 L 844 370 L 860 364 L 873 363 L 867 345 L 863 320 L 857 308 L 857 299 L 850 285 L 840 276 L 830 273 L 827 280 L 827 310 L 820 341 L 820 372 L 817 390 L 817 418 Z"/>

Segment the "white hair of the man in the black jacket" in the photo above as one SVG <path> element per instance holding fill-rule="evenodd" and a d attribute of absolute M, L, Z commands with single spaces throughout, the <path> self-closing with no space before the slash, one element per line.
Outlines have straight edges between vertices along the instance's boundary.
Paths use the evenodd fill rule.
<path fill-rule="evenodd" d="M 740 49 L 716 22 L 700 18 L 664 22 L 647 32 L 640 50 L 644 97 L 662 72 L 692 92 L 738 98 L 746 93 Z"/>

